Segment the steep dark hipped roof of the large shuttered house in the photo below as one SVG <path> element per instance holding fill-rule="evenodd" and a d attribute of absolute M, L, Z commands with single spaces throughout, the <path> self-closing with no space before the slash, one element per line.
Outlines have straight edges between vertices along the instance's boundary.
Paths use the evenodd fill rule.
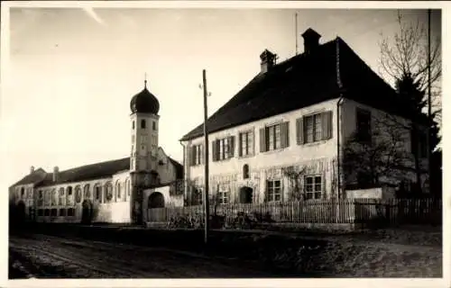
<path fill-rule="evenodd" d="M 403 115 L 395 91 L 339 37 L 259 73 L 207 120 L 209 132 L 290 112 L 340 95 Z M 181 140 L 203 135 L 203 124 Z"/>

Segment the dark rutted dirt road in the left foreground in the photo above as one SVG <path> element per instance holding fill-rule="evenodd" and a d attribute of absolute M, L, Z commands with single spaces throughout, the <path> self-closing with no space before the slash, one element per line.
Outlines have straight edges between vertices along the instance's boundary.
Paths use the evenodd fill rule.
<path fill-rule="evenodd" d="M 191 278 L 268 277 L 234 260 L 170 249 L 135 247 L 46 235 L 12 237 L 10 277 Z"/>

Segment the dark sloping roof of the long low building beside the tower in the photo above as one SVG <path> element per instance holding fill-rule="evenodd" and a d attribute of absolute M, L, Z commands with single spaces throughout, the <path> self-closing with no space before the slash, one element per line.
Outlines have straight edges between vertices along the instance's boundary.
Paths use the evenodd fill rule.
<path fill-rule="evenodd" d="M 183 176 L 183 166 L 179 162 L 170 158 L 170 162 L 176 166 L 177 175 L 179 178 Z M 71 183 L 79 181 L 95 180 L 98 178 L 104 178 L 111 175 L 115 175 L 118 172 L 130 170 L 130 157 L 124 157 L 121 159 L 110 160 L 106 162 L 100 162 L 95 164 L 90 164 L 86 166 L 78 166 L 71 168 L 69 170 L 64 170 L 59 172 L 58 183 Z M 181 171 L 181 172 L 180 172 Z M 40 183 L 40 185 L 51 185 L 55 184 L 53 182 L 53 173 L 48 173 L 45 179 Z"/>

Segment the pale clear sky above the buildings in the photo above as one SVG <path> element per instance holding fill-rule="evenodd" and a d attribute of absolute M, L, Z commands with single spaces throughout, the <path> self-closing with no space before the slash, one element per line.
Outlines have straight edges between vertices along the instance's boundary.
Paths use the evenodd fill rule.
<path fill-rule="evenodd" d="M 426 10 L 401 11 L 426 23 Z M 298 35 L 295 14 L 298 14 Z M 312 28 L 320 43 L 345 40 L 379 72 L 378 43 L 398 30 L 397 10 L 11 8 L 3 57 L 2 182 L 30 166 L 51 172 L 128 157 L 130 100 L 148 88 L 160 101 L 164 151 L 182 162 L 179 139 L 203 121 L 199 85 L 207 70 L 208 114 L 260 71 L 269 49 L 279 61 L 303 51 Z M 440 36 L 433 13 L 433 37 Z M 2 33 L 4 35 L 4 33 Z"/>

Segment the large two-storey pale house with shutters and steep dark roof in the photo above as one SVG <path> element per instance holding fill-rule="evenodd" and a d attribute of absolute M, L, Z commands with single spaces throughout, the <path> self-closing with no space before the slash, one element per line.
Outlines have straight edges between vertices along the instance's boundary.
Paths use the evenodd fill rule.
<path fill-rule="evenodd" d="M 304 52 L 281 63 L 264 50 L 260 73 L 208 118 L 209 194 L 216 202 L 290 201 L 294 185 L 304 200 L 345 197 L 345 141 L 354 131 L 371 139 L 380 117 L 408 122 L 395 91 L 344 40 L 320 44 L 312 29 L 302 37 Z M 400 149 L 410 153 L 410 131 L 400 133 Z M 201 124 L 180 139 L 191 204 L 201 202 L 204 189 L 203 134 Z M 415 182 L 411 162 L 399 168 L 403 181 Z M 302 175 L 297 184 L 290 173 Z"/>

